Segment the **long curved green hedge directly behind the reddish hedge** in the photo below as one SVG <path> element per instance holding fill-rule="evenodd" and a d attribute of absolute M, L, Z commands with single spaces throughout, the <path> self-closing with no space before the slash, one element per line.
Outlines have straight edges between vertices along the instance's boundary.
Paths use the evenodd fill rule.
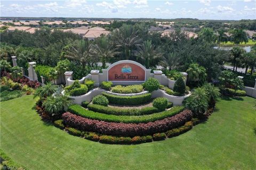
<path fill-rule="evenodd" d="M 68 108 L 68 111 L 76 114 L 78 116 L 82 116 L 85 118 L 90 118 L 92 120 L 100 120 L 106 122 L 116 122 L 116 123 L 148 123 L 148 122 L 155 122 L 158 120 L 163 120 L 166 117 L 174 116 L 175 114 L 180 113 L 183 111 L 183 106 L 175 106 L 169 111 L 154 113 L 150 115 L 141 115 L 141 116 L 117 116 L 117 115 L 108 115 L 93 111 L 88 111 L 84 109 L 82 106 L 79 105 L 71 105 Z"/>

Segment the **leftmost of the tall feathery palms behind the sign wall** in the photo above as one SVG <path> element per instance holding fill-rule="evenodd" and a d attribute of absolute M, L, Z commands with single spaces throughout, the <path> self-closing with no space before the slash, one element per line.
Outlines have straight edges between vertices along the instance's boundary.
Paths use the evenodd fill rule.
<path fill-rule="evenodd" d="M 65 57 L 76 60 L 83 65 L 89 64 L 92 60 L 92 45 L 87 40 L 75 41 L 74 45 L 66 46 L 64 49 Z"/>

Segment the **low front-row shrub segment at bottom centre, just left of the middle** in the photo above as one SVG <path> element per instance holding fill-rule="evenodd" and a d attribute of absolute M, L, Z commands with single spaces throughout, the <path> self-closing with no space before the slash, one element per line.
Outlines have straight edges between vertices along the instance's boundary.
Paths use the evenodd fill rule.
<path fill-rule="evenodd" d="M 102 135 L 99 138 L 99 142 L 101 143 L 109 143 L 109 144 L 130 144 L 130 137 L 113 137 L 110 135 Z"/>

